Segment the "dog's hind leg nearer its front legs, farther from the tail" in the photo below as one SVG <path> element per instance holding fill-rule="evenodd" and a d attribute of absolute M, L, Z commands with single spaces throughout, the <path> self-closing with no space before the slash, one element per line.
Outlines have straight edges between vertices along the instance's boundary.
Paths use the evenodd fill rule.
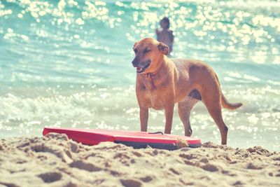
<path fill-rule="evenodd" d="M 190 135 L 193 133 L 193 130 L 190 127 L 190 111 L 198 101 L 198 99 L 190 97 L 189 95 L 186 97 L 186 99 L 183 99 L 183 101 L 178 103 L 179 116 L 185 128 L 185 136 L 187 137 L 190 137 Z"/>

